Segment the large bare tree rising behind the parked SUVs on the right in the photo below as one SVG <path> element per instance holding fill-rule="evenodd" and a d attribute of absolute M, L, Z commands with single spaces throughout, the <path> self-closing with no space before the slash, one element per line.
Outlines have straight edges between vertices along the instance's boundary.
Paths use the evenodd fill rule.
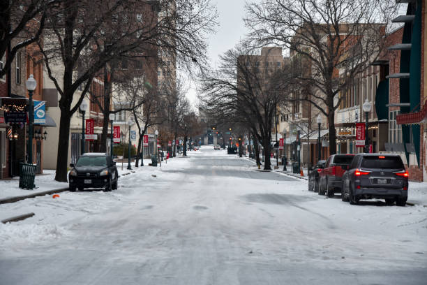
<path fill-rule="evenodd" d="M 327 117 L 331 146 L 336 143 L 337 96 L 384 50 L 394 2 L 272 0 L 246 6 L 253 43 L 290 50 L 296 84 L 290 100 L 308 101 Z"/>

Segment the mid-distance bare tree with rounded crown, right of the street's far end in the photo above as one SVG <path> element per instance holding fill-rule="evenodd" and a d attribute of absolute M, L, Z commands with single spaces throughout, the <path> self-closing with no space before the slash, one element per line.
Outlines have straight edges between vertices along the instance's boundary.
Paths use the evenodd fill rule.
<path fill-rule="evenodd" d="M 276 106 L 287 88 L 287 66 L 259 68 L 265 59 L 241 45 L 220 57 L 217 71 L 206 75 L 204 101 L 207 109 L 245 123 L 263 148 L 264 169 L 271 169 L 271 130 Z"/>

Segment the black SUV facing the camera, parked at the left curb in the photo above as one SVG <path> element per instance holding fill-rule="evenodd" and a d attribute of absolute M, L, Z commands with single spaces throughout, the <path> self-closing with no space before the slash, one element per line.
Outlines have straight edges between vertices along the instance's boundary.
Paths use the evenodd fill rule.
<path fill-rule="evenodd" d="M 116 162 L 108 154 L 83 154 L 70 167 L 73 168 L 68 174 L 70 191 L 75 191 L 76 188 L 80 191 L 84 188 L 104 188 L 104 191 L 117 189 L 119 175 Z"/>

